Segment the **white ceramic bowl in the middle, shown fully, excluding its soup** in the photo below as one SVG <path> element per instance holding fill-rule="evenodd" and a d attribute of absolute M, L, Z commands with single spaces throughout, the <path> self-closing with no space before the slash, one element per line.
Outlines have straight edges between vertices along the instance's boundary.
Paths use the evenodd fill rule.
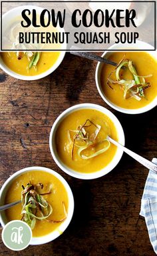
<path fill-rule="evenodd" d="M 77 111 L 79 109 L 96 109 L 96 110 L 104 113 L 105 115 L 107 115 L 114 123 L 114 125 L 116 127 L 116 131 L 118 133 L 118 141 L 122 145 L 124 145 L 124 131 L 123 131 L 122 126 L 120 125 L 120 122 L 118 121 L 118 119 L 108 109 L 105 109 L 104 107 L 101 107 L 96 104 L 90 104 L 90 103 L 78 104 L 73 107 L 69 107 L 69 109 L 65 110 L 63 113 L 61 113 L 61 115 L 59 115 L 59 117 L 56 119 L 55 123 L 53 124 L 51 133 L 50 133 L 50 137 L 49 137 L 49 147 L 50 147 L 51 155 L 53 156 L 53 159 L 55 160 L 57 165 L 63 171 L 65 171 L 65 173 L 67 173 L 75 178 L 96 179 L 98 177 L 102 177 L 103 175 L 106 175 L 107 173 L 112 171 L 112 169 L 114 169 L 114 167 L 116 167 L 116 165 L 118 164 L 118 162 L 120 161 L 120 159 L 122 157 L 123 151 L 121 149 L 117 149 L 112 161 L 106 167 L 104 167 L 100 171 L 96 171 L 94 173 L 80 173 L 78 171 L 75 171 L 75 170 L 67 167 L 67 165 L 65 165 L 61 161 L 61 159 L 59 158 L 59 155 L 57 154 L 57 149 L 56 149 L 56 145 L 55 145 L 55 134 L 56 134 L 57 128 L 59 127 L 59 124 L 61 123 L 61 121 L 63 121 L 63 119 L 65 119 L 65 117 L 67 117 L 67 115 L 69 115 L 72 112 Z"/>

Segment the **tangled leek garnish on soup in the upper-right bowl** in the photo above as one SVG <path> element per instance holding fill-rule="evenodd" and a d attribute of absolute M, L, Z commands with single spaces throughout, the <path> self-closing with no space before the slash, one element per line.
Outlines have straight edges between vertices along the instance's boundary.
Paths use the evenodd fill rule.
<path fill-rule="evenodd" d="M 122 72 L 125 69 L 122 69 L 122 67 L 125 67 L 125 69 L 128 69 L 130 73 L 132 74 L 132 78 L 134 79 L 120 79 L 120 76 L 122 76 Z M 115 73 L 116 75 L 116 81 L 110 79 L 111 75 Z M 128 99 L 130 97 L 136 99 L 137 101 L 140 101 L 142 97 L 145 97 L 144 90 L 148 89 L 150 87 L 150 83 L 146 82 L 144 78 L 146 77 L 152 77 L 152 75 L 138 75 L 136 72 L 136 68 L 134 66 L 134 63 L 130 59 L 122 59 L 120 63 L 118 63 L 116 69 L 112 71 L 106 80 L 106 84 L 111 88 L 111 85 L 117 84 L 120 85 L 120 89 L 124 91 L 124 99 Z"/>

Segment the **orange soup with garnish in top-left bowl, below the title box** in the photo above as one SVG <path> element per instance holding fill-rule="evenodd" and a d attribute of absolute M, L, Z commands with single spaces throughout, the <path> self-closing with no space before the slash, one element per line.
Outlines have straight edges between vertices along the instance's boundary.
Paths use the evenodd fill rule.
<path fill-rule="evenodd" d="M 19 75 L 40 75 L 49 70 L 59 58 L 60 52 L 6 52 L 1 53 L 3 62 Z"/>

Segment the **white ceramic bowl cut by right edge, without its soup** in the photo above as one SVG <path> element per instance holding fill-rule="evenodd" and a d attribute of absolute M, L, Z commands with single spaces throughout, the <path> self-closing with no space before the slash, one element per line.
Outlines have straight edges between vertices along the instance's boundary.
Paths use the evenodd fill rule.
<path fill-rule="evenodd" d="M 142 41 L 136 41 L 136 47 L 138 47 L 138 49 L 154 49 L 152 47 L 152 45 L 149 45 L 148 43 L 144 43 Z M 122 44 L 118 44 L 118 45 L 112 45 L 111 47 L 109 47 L 108 49 L 110 50 L 114 50 L 114 49 L 124 49 L 124 45 Z M 136 49 L 135 47 L 133 48 L 131 45 L 125 45 L 125 49 L 129 49 L 132 51 L 134 49 Z M 115 50 L 114 50 L 115 51 Z M 148 52 L 152 57 L 154 57 L 154 59 L 157 59 L 157 52 L 156 51 L 146 51 Z M 105 51 L 102 54 L 102 57 L 105 57 L 106 59 L 108 59 L 108 57 L 112 54 L 112 51 Z M 149 111 L 150 109 L 152 109 L 153 107 L 156 107 L 157 105 L 157 96 L 156 98 L 151 101 L 148 105 L 144 106 L 144 107 L 140 107 L 139 109 L 125 109 L 123 107 L 118 107 L 117 105 L 115 105 L 114 103 L 112 103 L 112 101 L 110 101 L 106 95 L 104 94 L 104 91 L 101 87 L 101 83 L 100 83 L 100 74 L 102 71 L 102 65 L 103 63 L 98 62 L 98 64 L 96 65 L 96 72 L 95 72 L 95 81 L 96 81 L 96 87 L 98 89 L 98 92 L 100 94 L 100 96 L 102 97 L 102 99 L 113 109 L 116 109 L 117 111 L 120 111 L 122 113 L 126 113 L 126 114 L 140 114 L 140 113 L 144 113 L 146 111 Z"/>

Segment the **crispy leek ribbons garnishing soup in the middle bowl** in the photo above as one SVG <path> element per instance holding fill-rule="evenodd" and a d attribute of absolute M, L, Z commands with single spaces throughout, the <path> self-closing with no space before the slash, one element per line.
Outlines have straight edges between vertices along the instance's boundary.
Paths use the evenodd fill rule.
<path fill-rule="evenodd" d="M 78 125 L 77 130 L 69 130 L 68 138 L 69 142 L 73 143 L 73 148 L 71 151 L 71 157 L 74 160 L 74 148 L 78 147 L 77 154 L 82 159 L 90 159 L 104 153 L 110 147 L 110 141 L 108 139 L 103 139 L 101 141 L 96 141 L 96 137 L 100 132 L 101 126 L 93 123 L 90 119 L 86 119 L 83 125 Z M 73 137 L 71 138 L 71 133 Z M 101 149 L 96 150 L 97 146 L 102 145 Z M 91 149 L 91 153 L 84 155 L 86 149 Z M 94 153 L 93 153 L 94 149 Z M 84 151 L 84 153 L 83 153 Z"/>

